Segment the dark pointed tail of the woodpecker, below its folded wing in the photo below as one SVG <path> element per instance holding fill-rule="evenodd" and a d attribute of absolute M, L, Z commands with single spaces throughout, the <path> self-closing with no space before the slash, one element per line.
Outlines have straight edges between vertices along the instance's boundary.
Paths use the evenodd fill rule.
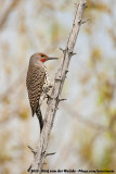
<path fill-rule="evenodd" d="M 40 105 L 38 105 L 37 109 L 36 109 L 36 115 L 37 115 L 37 117 L 39 120 L 40 133 L 41 133 L 42 127 L 43 127 L 43 120 L 42 120 L 42 114 L 41 114 Z"/>

